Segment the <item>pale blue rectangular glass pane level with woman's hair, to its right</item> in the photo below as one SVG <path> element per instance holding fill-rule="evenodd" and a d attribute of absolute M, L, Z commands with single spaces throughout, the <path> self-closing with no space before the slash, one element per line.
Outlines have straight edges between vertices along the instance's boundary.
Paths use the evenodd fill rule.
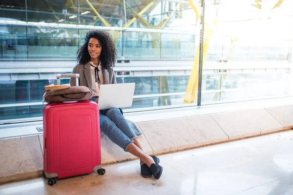
<path fill-rule="evenodd" d="M 195 35 L 127 31 L 125 58 L 192 60 L 195 38 Z"/>

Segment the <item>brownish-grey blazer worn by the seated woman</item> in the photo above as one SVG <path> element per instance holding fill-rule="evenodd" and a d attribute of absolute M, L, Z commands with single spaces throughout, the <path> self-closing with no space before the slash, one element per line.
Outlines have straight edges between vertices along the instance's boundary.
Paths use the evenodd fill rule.
<path fill-rule="evenodd" d="M 105 70 L 104 68 L 102 68 L 102 70 L 103 70 L 103 80 L 104 80 L 103 84 L 116 84 L 117 83 L 113 68 L 109 68 L 108 70 Z M 93 90 L 89 62 L 87 62 L 86 64 L 77 64 L 76 66 L 74 66 L 74 68 L 72 70 L 72 74 L 80 74 L 79 85 L 88 87 L 91 90 Z M 70 79 L 70 85 L 76 86 L 75 79 Z"/>

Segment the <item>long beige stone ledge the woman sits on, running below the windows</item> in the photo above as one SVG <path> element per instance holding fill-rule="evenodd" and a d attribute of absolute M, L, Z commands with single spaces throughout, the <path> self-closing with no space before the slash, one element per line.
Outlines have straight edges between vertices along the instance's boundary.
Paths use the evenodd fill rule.
<path fill-rule="evenodd" d="M 138 123 L 147 154 L 160 155 L 289 130 L 293 105 Z M 102 135 L 102 164 L 136 159 Z M 0 184 L 42 176 L 42 134 L 0 139 Z"/>

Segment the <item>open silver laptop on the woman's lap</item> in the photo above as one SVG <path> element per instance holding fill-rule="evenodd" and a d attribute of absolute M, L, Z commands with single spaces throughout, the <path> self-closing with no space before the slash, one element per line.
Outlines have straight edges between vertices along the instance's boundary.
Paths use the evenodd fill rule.
<path fill-rule="evenodd" d="M 135 83 L 107 84 L 100 86 L 100 110 L 132 106 Z"/>

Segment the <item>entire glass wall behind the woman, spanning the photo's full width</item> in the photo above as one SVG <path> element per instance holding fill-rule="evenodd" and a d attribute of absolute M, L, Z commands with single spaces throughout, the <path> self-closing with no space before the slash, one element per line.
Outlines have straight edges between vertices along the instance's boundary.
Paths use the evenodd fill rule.
<path fill-rule="evenodd" d="M 113 36 L 117 82 L 136 83 L 126 112 L 292 96 L 292 10 L 291 0 L 1 0 L 0 121 L 42 117 L 44 86 L 71 73 L 89 30 Z"/>

